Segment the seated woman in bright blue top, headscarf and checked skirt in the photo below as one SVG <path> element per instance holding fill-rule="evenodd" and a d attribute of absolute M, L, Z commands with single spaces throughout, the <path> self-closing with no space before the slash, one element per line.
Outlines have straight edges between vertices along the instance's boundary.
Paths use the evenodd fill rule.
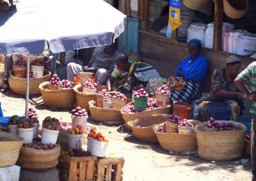
<path fill-rule="evenodd" d="M 176 77 L 185 80 L 181 90 L 172 90 L 170 101 L 188 102 L 193 99 L 200 87 L 201 82 L 208 71 L 208 61 L 200 54 L 202 44 L 199 40 L 193 39 L 188 42 L 189 55 L 184 61 L 180 62 L 175 70 Z M 148 82 L 147 92 L 151 95 L 156 94 L 156 89 L 166 83 L 166 79 L 153 79 Z"/>

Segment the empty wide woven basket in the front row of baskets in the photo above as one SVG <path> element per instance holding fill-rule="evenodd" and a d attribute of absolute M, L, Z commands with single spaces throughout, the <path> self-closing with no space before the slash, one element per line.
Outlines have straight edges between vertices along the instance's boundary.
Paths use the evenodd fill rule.
<path fill-rule="evenodd" d="M 157 142 L 153 127 L 165 122 L 168 116 L 167 114 L 151 115 L 150 117 L 141 117 L 136 120 L 131 120 L 127 122 L 127 124 L 131 127 L 133 135 L 138 140 Z"/>

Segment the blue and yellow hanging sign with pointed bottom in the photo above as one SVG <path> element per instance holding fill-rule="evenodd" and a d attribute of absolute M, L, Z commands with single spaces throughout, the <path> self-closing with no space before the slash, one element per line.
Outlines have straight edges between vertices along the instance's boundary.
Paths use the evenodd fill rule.
<path fill-rule="evenodd" d="M 172 27 L 172 31 L 175 31 L 180 23 L 180 1 L 181 0 L 170 0 L 169 8 L 169 24 Z"/>

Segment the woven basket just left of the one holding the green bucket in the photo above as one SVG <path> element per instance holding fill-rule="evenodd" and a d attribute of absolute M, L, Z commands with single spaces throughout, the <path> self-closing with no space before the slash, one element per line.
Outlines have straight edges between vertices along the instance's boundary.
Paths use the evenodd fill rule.
<path fill-rule="evenodd" d="M 95 101 L 89 101 L 90 113 L 95 122 L 115 122 L 122 124 L 124 119 L 118 110 L 104 109 L 95 106 Z"/>

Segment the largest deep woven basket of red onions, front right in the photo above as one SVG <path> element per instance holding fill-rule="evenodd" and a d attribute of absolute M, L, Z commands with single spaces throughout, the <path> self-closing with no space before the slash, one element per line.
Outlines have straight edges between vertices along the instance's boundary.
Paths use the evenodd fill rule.
<path fill-rule="evenodd" d="M 209 161 L 227 161 L 241 157 L 246 127 L 239 122 L 234 122 L 234 126 L 236 131 L 206 133 L 204 122 L 196 125 L 198 156 Z"/>

